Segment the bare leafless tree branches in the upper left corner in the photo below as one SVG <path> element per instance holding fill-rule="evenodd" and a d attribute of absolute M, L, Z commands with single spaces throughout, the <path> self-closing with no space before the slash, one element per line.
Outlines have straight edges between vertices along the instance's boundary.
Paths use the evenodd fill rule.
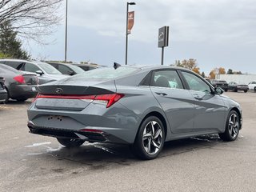
<path fill-rule="evenodd" d="M 63 0 L 0 0 L 0 23 L 8 21 L 22 38 L 41 42 L 61 21 L 58 9 Z M 1 31 L 0 31 L 1 33 Z"/>

